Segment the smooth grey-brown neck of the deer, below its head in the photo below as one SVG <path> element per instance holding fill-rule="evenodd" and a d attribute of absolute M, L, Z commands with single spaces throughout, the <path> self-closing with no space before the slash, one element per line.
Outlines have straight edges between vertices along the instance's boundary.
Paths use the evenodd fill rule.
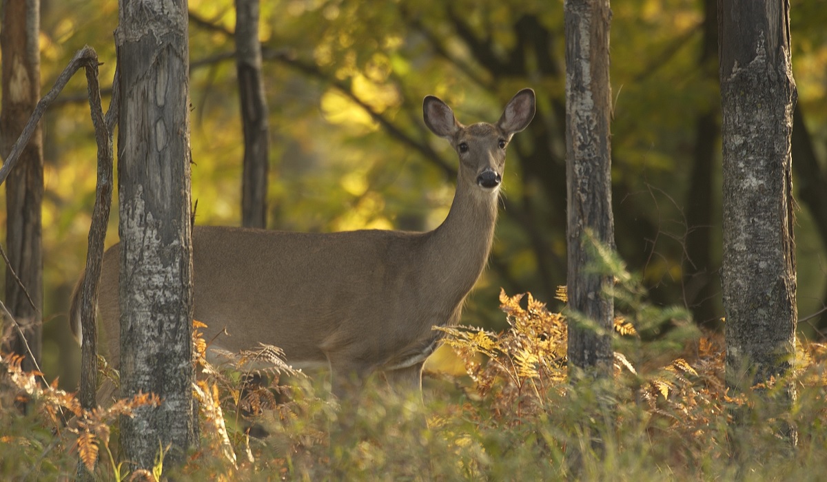
<path fill-rule="evenodd" d="M 481 191 L 457 179 L 457 193 L 442 225 L 428 242 L 429 277 L 440 293 L 450 293 L 451 303 L 461 303 L 480 277 L 491 245 L 497 219 L 498 194 Z"/>

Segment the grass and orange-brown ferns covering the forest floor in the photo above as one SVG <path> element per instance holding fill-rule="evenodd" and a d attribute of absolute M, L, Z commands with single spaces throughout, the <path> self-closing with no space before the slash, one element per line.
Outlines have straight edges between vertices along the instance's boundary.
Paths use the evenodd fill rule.
<path fill-rule="evenodd" d="M 503 331 L 439 328 L 466 375 L 426 374 L 424 406 L 375 379 L 340 407 L 324 377 L 291 370 L 271 346 L 210 365 L 196 322 L 201 441 L 183 467 L 165 470 L 177 480 L 820 479 L 827 346 L 801 343 L 791 379 L 756 387 L 762 397 L 730 394 L 723 336 L 700 332 L 685 310 L 648 303 L 627 274 L 614 297 L 614 379 L 569 379 L 566 316 L 530 293 L 503 292 Z M 109 445 L 117 417 L 157 398 L 87 412 L 20 362 L 2 356 L 0 478 L 71 478 L 78 458 L 98 480 L 156 476 L 129 474 Z M 798 393 L 783 414 L 798 432 L 794 448 L 767 420 L 782 381 Z M 744 409 L 748 429 L 735 432 L 733 413 Z"/>

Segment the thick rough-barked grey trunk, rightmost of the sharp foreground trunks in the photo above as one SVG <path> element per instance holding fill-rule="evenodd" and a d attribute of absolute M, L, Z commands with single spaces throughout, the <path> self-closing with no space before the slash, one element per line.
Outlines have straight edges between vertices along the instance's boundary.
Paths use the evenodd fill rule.
<path fill-rule="evenodd" d="M 788 0 L 723 0 L 726 384 L 790 370 L 796 335 L 791 135 L 796 84 Z M 793 387 L 790 384 L 791 398 Z"/>

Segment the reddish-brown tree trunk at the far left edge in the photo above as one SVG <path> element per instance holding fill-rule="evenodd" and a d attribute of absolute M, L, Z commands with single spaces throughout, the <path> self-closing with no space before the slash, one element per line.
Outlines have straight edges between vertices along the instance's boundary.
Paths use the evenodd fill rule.
<path fill-rule="evenodd" d="M 2 2 L 2 112 L 0 144 L 5 159 L 34 112 L 40 96 L 40 2 Z M 26 356 L 25 370 L 40 365 L 43 312 L 43 142 L 40 127 L 6 183 L 6 306 L 26 335 L 12 331 L 9 348 Z M 13 273 L 12 273 L 13 270 Z M 20 281 L 14 278 L 17 274 Z M 26 347 L 28 345 L 28 347 Z M 31 351 L 31 352 L 30 352 Z"/>

